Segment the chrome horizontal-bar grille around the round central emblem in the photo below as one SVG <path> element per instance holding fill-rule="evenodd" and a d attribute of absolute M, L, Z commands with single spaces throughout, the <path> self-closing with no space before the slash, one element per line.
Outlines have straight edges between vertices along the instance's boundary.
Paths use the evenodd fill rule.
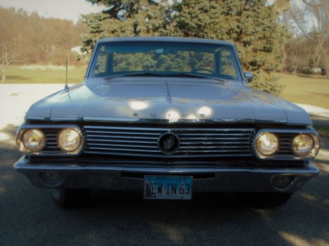
<path fill-rule="evenodd" d="M 128 128 L 85 126 L 85 153 L 135 156 L 167 156 L 158 146 L 162 133 L 173 132 L 180 140 L 174 157 L 250 156 L 254 129 Z"/>

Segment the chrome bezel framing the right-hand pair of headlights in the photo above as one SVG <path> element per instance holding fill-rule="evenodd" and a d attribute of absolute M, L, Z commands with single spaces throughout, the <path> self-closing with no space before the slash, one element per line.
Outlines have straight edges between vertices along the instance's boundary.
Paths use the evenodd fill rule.
<path fill-rule="evenodd" d="M 290 151 L 291 155 L 282 155 L 280 154 L 280 147 L 278 151 L 272 155 L 262 155 L 261 153 L 258 152 L 256 148 L 256 140 L 258 139 L 259 135 L 264 133 L 264 132 L 270 132 L 273 134 L 277 134 L 279 137 L 280 141 L 280 134 L 284 135 L 291 135 L 291 145 L 290 145 Z M 295 154 L 293 151 L 293 139 L 298 136 L 299 134 L 308 134 L 312 136 L 314 140 L 314 148 L 308 155 L 300 156 Z M 280 141 L 281 142 L 281 141 Z M 318 133 L 313 129 L 313 128 L 308 128 L 308 129 L 261 129 L 259 130 L 254 137 L 253 143 L 252 143 L 252 148 L 254 155 L 257 156 L 259 159 L 269 159 L 269 160 L 310 160 L 316 157 L 316 155 L 319 152 L 320 149 L 320 138 Z"/>

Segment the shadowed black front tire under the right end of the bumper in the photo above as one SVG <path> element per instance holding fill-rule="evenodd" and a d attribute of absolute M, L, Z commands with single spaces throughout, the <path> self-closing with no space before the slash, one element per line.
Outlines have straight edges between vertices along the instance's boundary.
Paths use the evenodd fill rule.
<path fill-rule="evenodd" d="M 254 209 L 274 209 L 287 202 L 293 193 L 281 192 L 241 192 L 236 195 L 248 207 Z"/>

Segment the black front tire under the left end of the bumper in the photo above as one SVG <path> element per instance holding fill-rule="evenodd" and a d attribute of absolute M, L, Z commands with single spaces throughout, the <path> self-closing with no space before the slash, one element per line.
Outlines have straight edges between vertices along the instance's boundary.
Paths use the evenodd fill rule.
<path fill-rule="evenodd" d="M 88 189 L 51 189 L 53 200 L 63 209 L 86 206 L 90 196 Z"/>

